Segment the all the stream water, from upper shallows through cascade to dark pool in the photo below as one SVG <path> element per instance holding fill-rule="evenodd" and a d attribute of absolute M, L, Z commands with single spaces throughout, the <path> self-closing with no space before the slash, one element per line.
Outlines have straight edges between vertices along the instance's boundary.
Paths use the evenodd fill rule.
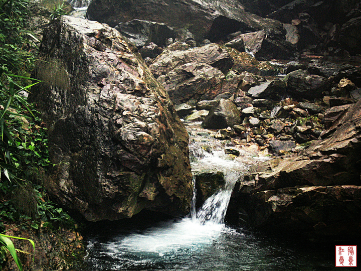
<path fill-rule="evenodd" d="M 239 149 L 226 155 L 230 142 L 214 140 L 196 126 L 189 127 L 194 172 L 224 172 L 226 185 L 188 217 L 156 222 L 129 220 L 89 230 L 89 271 L 110 270 L 334 270 L 334 245 L 304 244 L 275 239 L 224 224 L 229 199 L 240 174 L 264 160 Z M 195 197 L 194 197 L 195 199 Z M 345 270 L 345 269 L 343 269 Z"/>

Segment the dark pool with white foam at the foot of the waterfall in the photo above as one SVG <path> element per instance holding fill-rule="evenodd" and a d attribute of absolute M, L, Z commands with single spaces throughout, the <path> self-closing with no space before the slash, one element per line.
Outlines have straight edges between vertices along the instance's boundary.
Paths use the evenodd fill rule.
<path fill-rule="evenodd" d="M 89 229 L 87 270 L 360 269 L 334 267 L 339 243 L 326 240 L 277 238 L 220 224 L 201 225 L 190 218 L 144 222 Z"/>

